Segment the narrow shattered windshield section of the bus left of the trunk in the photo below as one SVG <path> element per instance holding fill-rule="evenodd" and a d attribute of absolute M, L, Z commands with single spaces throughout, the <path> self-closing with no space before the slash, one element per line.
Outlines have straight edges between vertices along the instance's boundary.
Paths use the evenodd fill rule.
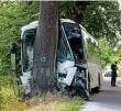
<path fill-rule="evenodd" d="M 22 38 L 22 63 L 23 71 L 29 71 L 33 67 L 33 45 L 36 34 L 36 29 L 28 30 Z"/>

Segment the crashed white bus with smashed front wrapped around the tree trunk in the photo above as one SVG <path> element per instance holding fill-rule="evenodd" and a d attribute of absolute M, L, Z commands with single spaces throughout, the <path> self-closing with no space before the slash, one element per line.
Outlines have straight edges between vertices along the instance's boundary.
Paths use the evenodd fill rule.
<path fill-rule="evenodd" d="M 29 79 L 33 67 L 33 45 L 38 22 L 34 21 L 21 31 L 22 84 L 25 93 L 31 92 Z M 101 59 L 98 42 L 84 26 L 69 19 L 61 20 L 56 57 L 56 87 L 72 91 L 81 87 L 88 92 L 99 91 L 102 81 Z M 82 81 L 84 80 L 84 81 Z M 82 89 L 82 90 L 84 90 Z"/>

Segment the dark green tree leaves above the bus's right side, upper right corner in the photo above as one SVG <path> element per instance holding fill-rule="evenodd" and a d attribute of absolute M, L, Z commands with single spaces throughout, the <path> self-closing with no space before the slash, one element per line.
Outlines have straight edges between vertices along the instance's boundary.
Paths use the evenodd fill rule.
<path fill-rule="evenodd" d="M 114 45 L 118 41 L 117 32 L 121 31 L 118 2 L 91 2 L 86 8 L 82 24 L 96 38 L 106 38 Z"/>

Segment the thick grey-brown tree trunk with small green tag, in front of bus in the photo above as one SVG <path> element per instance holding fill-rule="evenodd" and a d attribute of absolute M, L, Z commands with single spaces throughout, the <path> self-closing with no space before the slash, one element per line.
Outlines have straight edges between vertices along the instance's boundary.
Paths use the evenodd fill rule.
<path fill-rule="evenodd" d="M 33 75 L 42 92 L 53 91 L 58 40 L 58 2 L 41 1 L 34 43 Z"/>

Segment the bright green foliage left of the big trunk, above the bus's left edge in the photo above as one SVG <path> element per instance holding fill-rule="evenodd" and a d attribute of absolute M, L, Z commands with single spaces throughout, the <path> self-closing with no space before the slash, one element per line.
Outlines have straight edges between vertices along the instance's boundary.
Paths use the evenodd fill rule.
<path fill-rule="evenodd" d="M 10 43 L 18 43 L 21 26 L 37 20 L 38 8 L 38 1 L 31 4 L 26 1 L 0 2 L 0 74 L 10 73 Z M 21 49 L 16 47 L 19 66 Z"/>

